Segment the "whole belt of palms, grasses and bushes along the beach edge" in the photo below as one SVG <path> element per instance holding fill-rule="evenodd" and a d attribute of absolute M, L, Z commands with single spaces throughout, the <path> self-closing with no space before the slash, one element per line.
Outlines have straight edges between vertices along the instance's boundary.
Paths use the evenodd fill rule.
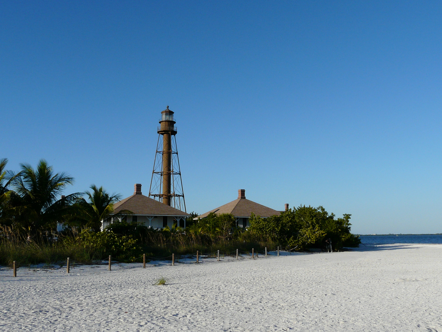
<path fill-rule="evenodd" d="M 101 220 L 109 218 L 117 193 L 91 185 L 84 193 L 63 195 L 73 178 L 54 173 L 45 160 L 34 169 L 22 164 L 19 172 L 6 170 L 8 160 L 0 159 L 0 264 L 17 261 L 21 265 L 72 262 L 92 263 L 111 255 L 125 262 L 139 262 L 143 254 L 149 259 L 169 259 L 181 255 L 234 255 L 242 252 L 290 251 L 323 248 L 331 239 L 334 250 L 358 246 L 358 236 L 351 234 L 350 214 L 335 218 L 323 207 L 299 206 L 279 216 L 262 219 L 251 215 L 250 227 L 236 227 L 230 214 L 210 214 L 193 220 L 187 228 L 152 229 L 126 221 L 110 224 L 102 232 Z M 121 211 L 120 214 L 130 214 Z M 57 224 L 63 224 L 57 232 Z"/>

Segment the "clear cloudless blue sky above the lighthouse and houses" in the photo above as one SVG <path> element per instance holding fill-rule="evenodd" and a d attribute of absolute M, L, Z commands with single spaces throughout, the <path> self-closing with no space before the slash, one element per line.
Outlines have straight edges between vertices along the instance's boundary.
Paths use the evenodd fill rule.
<path fill-rule="evenodd" d="M 442 232 L 441 56 L 439 1 L 2 1 L 0 157 L 148 193 L 169 105 L 188 211 Z"/>

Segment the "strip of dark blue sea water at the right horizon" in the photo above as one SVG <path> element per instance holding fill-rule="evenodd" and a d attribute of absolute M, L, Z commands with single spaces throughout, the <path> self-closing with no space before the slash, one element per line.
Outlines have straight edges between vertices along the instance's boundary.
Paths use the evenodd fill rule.
<path fill-rule="evenodd" d="M 364 244 L 442 243 L 442 234 L 360 235 Z"/>

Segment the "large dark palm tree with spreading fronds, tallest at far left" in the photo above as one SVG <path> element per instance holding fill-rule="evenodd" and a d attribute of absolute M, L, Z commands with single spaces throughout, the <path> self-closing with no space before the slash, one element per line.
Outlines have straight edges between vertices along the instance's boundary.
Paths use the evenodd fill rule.
<path fill-rule="evenodd" d="M 64 172 L 54 174 L 44 159 L 38 162 L 35 170 L 29 164 L 20 167 L 19 174 L 12 174 L 16 193 L 15 220 L 34 234 L 56 228 L 58 221 L 72 213 L 72 203 L 80 196 L 80 193 L 73 193 L 58 198 L 74 179 Z"/>

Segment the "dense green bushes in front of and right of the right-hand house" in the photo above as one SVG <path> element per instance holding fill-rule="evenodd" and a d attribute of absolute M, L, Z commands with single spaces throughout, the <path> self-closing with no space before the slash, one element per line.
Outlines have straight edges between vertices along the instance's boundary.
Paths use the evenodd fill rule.
<path fill-rule="evenodd" d="M 289 209 L 280 215 L 261 218 L 253 213 L 249 218 L 247 229 L 237 228 L 231 214 L 210 213 L 186 228 L 188 236 L 218 241 L 240 241 L 279 243 L 291 250 L 304 250 L 309 247 L 324 247 L 324 240 L 330 238 L 333 247 L 357 247 L 360 239 L 350 233 L 350 214 L 336 218 L 320 206 L 300 206 Z"/>

